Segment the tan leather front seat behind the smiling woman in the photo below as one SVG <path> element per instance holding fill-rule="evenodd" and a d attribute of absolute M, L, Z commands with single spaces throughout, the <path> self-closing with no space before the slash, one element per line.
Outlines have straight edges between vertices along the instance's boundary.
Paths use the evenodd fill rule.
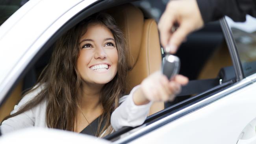
<path fill-rule="evenodd" d="M 130 50 L 129 63 L 132 70 L 128 73 L 127 92 L 141 81 L 161 68 L 161 48 L 158 28 L 154 19 L 144 19 L 140 9 L 132 4 L 108 9 L 120 26 Z M 154 103 L 150 114 L 164 109 L 163 102 Z"/>

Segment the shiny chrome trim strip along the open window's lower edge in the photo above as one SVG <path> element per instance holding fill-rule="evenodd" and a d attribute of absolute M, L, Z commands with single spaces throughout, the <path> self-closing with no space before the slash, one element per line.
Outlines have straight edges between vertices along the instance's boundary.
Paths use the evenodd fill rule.
<path fill-rule="evenodd" d="M 255 76 L 255 78 L 256 78 L 256 76 Z M 251 79 L 247 79 L 247 78 L 243 79 L 242 81 L 237 82 L 234 86 L 232 86 L 228 89 L 225 89 L 217 94 L 214 94 L 213 96 L 210 96 L 209 98 L 206 98 L 206 99 L 204 99 L 200 102 L 197 102 L 193 105 L 190 105 L 176 113 L 166 116 L 165 118 L 162 118 L 161 120 L 158 120 L 148 126 L 142 127 L 138 131 L 136 131 L 124 138 L 121 138 L 113 143 L 121 144 L 121 143 L 131 142 L 132 140 L 134 140 L 138 137 L 141 137 L 142 135 L 145 135 L 146 133 L 153 131 L 154 129 L 157 129 L 160 126 L 163 126 L 165 124 L 168 124 L 168 123 L 176 120 L 174 118 L 177 116 L 178 116 L 178 118 L 186 116 L 187 114 L 197 111 L 198 109 L 201 109 L 202 107 L 205 107 L 206 105 L 209 105 L 210 103 L 215 102 L 216 100 L 219 100 L 219 99 L 227 96 L 228 94 L 231 94 L 232 92 L 235 92 L 236 90 L 239 90 L 239 89 L 246 87 L 247 85 L 250 85 L 250 84 L 252 84 Z M 123 135 L 125 135 L 125 134 L 123 134 Z M 122 137 L 122 135 L 121 135 L 121 137 Z"/>

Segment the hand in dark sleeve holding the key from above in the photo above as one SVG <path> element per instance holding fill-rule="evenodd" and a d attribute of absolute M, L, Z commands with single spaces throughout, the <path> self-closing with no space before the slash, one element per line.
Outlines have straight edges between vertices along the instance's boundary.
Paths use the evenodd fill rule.
<path fill-rule="evenodd" d="M 178 29 L 172 33 L 174 24 L 178 24 Z M 196 0 L 171 0 L 158 23 L 161 44 L 173 54 L 189 33 L 203 25 Z"/>

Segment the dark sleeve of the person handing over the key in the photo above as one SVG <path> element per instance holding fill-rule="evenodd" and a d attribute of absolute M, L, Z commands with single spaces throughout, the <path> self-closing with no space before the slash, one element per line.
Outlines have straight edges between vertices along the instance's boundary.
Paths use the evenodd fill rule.
<path fill-rule="evenodd" d="M 256 17 L 256 0 L 197 0 L 204 23 L 224 15 L 234 21 L 245 21 L 245 15 Z"/>

